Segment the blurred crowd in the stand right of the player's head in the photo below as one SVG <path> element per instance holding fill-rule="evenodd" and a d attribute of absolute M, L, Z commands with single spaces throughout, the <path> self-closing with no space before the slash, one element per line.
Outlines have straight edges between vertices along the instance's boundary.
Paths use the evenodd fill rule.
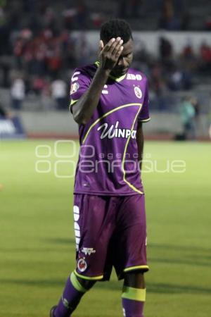
<path fill-rule="evenodd" d="M 179 91 L 192 89 L 200 82 L 200 78 L 210 78 L 211 47 L 202 41 L 199 49 L 193 49 L 190 39 L 179 54 L 175 54 L 174 46 L 169 39 L 160 37 L 159 56 L 155 58 L 146 51 L 144 43 L 140 43 L 134 56 L 136 68 L 148 75 L 151 89 L 160 96 L 167 90 Z"/>

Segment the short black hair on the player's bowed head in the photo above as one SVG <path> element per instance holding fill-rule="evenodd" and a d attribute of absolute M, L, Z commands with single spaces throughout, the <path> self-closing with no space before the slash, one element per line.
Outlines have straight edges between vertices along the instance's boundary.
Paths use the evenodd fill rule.
<path fill-rule="evenodd" d="M 120 19 L 110 19 L 103 23 L 101 25 L 100 37 L 106 43 L 113 37 L 121 37 L 124 43 L 127 43 L 129 39 L 133 39 L 129 23 Z"/>

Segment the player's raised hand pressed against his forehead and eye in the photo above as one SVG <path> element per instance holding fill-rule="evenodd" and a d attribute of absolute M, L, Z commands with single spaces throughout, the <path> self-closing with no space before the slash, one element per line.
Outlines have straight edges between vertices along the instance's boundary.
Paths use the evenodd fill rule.
<path fill-rule="evenodd" d="M 100 41 L 99 61 L 103 70 L 111 71 L 115 67 L 123 50 L 123 41 L 121 37 L 110 39 L 104 46 L 103 41 Z"/>

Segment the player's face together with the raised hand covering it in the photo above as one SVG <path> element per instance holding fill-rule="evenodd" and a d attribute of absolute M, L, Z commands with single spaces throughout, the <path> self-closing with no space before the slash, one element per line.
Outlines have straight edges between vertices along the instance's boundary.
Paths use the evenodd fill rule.
<path fill-rule="evenodd" d="M 129 66 L 132 63 L 133 58 L 133 42 L 132 39 L 125 44 L 120 37 L 116 39 L 110 39 L 110 41 L 104 45 L 103 41 L 100 41 L 100 54 L 99 61 L 101 68 L 110 71 L 115 77 L 120 77 L 127 73 Z"/>

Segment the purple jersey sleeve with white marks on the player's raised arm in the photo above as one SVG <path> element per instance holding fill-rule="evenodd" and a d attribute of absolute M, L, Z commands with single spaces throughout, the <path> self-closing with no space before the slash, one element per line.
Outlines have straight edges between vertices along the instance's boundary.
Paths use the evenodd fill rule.
<path fill-rule="evenodd" d="M 70 111 L 72 106 L 79 100 L 80 97 L 87 91 L 91 79 L 82 70 L 75 69 L 70 84 Z"/>

